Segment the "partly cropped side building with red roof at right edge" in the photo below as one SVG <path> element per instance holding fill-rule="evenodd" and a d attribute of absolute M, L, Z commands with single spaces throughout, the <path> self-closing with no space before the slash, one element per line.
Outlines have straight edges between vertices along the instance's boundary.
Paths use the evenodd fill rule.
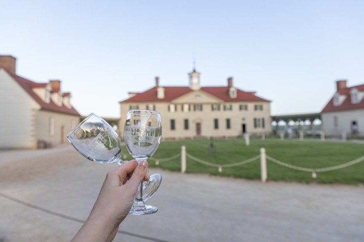
<path fill-rule="evenodd" d="M 364 135 L 364 84 L 347 87 L 346 80 L 336 81 L 336 92 L 321 119 L 325 135 Z"/>

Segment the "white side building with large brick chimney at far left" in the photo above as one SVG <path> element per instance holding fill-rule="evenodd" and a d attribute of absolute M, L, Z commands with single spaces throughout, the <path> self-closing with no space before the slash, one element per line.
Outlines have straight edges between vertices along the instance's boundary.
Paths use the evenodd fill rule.
<path fill-rule="evenodd" d="M 37 83 L 16 74 L 16 58 L 0 55 L 0 149 L 36 149 L 66 142 L 80 122 L 60 80 Z"/>

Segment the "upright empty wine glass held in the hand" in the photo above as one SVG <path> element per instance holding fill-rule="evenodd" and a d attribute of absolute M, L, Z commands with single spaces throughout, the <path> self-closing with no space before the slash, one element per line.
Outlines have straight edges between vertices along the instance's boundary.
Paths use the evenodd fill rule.
<path fill-rule="evenodd" d="M 129 110 L 125 119 L 124 141 L 132 157 L 140 163 L 146 161 L 157 150 L 162 136 L 161 115 L 150 110 Z M 153 174 L 158 189 L 162 176 Z M 156 207 L 146 205 L 143 199 L 143 184 L 139 185 L 129 214 L 150 214 Z"/>

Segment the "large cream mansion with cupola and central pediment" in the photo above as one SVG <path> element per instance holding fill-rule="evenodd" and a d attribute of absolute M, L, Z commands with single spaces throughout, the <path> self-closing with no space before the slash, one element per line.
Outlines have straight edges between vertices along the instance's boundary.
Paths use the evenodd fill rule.
<path fill-rule="evenodd" d="M 120 102 L 119 127 L 124 127 L 128 110 L 149 109 L 161 113 L 164 139 L 272 132 L 270 101 L 234 87 L 232 77 L 227 86 L 201 87 L 195 69 L 188 76 L 189 86 L 160 86 L 156 77 L 149 90 L 130 92 L 130 97 Z"/>

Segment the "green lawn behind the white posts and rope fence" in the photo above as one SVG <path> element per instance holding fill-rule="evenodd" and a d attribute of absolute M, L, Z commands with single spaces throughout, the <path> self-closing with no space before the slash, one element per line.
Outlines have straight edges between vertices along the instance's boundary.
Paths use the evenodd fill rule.
<path fill-rule="evenodd" d="M 181 146 L 186 146 L 187 153 L 215 164 L 232 164 L 247 160 L 259 154 L 264 147 L 266 154 L 284 163 L 307 168 L 322 168 L 336 166 L 364 156 L 364 144 L 350 142 L 320 142 L 299 140 L 250 139 L 246 146 L 244 139 L 214 140 L 215 154 L 209 152 L 210 140 L 184 140 L 161 142 L 153 158 L 168 158 L 181 152 Z M 127 151 L 123 147 L 123 153 Z M 127 159 L 132 159 L 128 156 Z M 149 160 L 149 166 L 156 166 Z M 181 171 L 181 158 L 169 162 L 160 162 L 163 169 Z M 317 178 L 311 172 L 290 169 L 267 160 L 268 181 L 297 181 L 319 183 L 364 183 L 364 161 L 346 168 L 317 172 Z M 188 173 L 208 173 L 244 179 L 260 179 L 259 159 L 251 163 L 226 167 L 219 172 L 217 167 L 206 166 L 187 157 Z"/>

